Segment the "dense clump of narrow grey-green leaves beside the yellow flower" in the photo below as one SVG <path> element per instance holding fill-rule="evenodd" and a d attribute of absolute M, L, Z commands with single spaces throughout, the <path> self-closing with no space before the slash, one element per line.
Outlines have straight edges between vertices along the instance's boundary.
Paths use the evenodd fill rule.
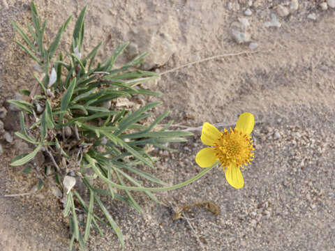
<path fill-rule="evenodd" d="M 101 43 L 83 56 L 85 12 L 86 7 L 75 22 L 68 52 L 59 52 L 58 46 L 72 17 L 61 25 L 48 46 L 44 40 L 46 21 L 41 22 L 34 3 L 31 3 L 32 26 L 27 25 L 29 32 L 13 22 L 23 40 L 15 40 L 15 43 L 36 61 L 42 73 L 35 76 L 38 88 L 20 90 L 27 100 L 8 101 L 22 110 L 21 131 L 15 135 L 35 146 L 34 151 L 17 156 L 10 165 L 25 165 L 38 151 L 43 151 L 54 166 L 59 186 L 64 186 L 61 181 L 65 176 L 75 176 L 87 187 L 88 201 L 77 192 L 76 186 L 64 192 L 64 217 L 69 217 L 72 233 L 70 250 L 75 240 L 84 249 L 91 229 L 103 234 L 99 225 L 112 227 L 124 246 L 121 230 L 101 196 L 124 201 L 142 212 L 129 189 L 122 191 L 131 184 L 159 203 L 144 188 L 144 182 L 167 185 L 143 171 L 143 165 L 154 167 L 157 160 L 150 155 L 148 146 L 173 151 L 168 143 L 185 142 L 184 137 L 191 135 L 169 130 L 172 122 L 158 126 L 168 112 L 148 122 L 153 116 L 152 110 L 161 102 L 149 102 L 138 109 L 121 109 L 116 105 L 118 98 L 160 96 L 161 93 L 141 89 L 138 85 L 158 75 L 136 68 L 146 54 L 136 56 L 119 68 L 114 66 L 128 43 L 119 45 L 114 54 L 102 62 L 96 59 Z M 92 182 L 95 180 L 105 183 L 105 189 L 95 185 L 99 183 Z M 100 208 L 103 217 L 97 215 L 96 207 Z M 86 213 L 84 220 L 78 217 L 78 209 Z"/>

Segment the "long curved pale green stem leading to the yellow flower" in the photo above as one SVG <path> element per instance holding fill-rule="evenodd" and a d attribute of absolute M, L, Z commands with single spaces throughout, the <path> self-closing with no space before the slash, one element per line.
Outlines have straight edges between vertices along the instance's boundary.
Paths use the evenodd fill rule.
<path fill-rule="evenodd" d="M 94 159 L 92 159 L 91 156 L 85 154 L 84 157 L 91 164 L 91 167 L 94 169 L 94 172 L 96 172 L 96 174 L 99 176 L 99 178 L 101 178 L 103 181 L 105 181 L 106 183 L 114 186 L 114 188 L 119 188 L 119 189 L 123 189 L 123 190 L 133 190 L 133 191 L 159 192 L 159 191 L 168 191 L 168 190 L 173 190 L 173 189 L 177 189 L 177 188 L 182 188 L 185 185 L 188 185 L 188 184 L 192 183 L 193 181 L 198 180 L 198 178 L 201 178 L 202 176 L 204 176 L 204 174 L 207 174 L 207 172 L 211 171 L 211 169 L 213 169 L 213 167 L 216 166 L 216 163 L 215 163 L 211 167 L 207 167 L 202 172 L 200 172 L 199 174 L 195 175 L 193 178 L 190 178 L 189 180 L 184 181 L 183 183 L 179 183 L 177 185 L 172 185 L 172 186 L 170 186 L 168 188 L 137 188 L 137 187 L 131 187 L 131 186 L 126 186 L 126 185 L 119 185 L 117 183 L 114 183 L 114 182 L 110 181 L 108 178 L 106 178 L 105 176 L 103 176 L 103 174 L 101 174 L 101 171 L 98 169 L 98 167 L 96 167 L 96 165 L 94 163 Z"/>

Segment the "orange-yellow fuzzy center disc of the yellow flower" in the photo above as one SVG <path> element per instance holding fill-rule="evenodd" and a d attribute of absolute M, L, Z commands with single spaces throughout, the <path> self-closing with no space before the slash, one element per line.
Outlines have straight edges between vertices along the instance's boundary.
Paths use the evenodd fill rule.
<path fill-rule="evenodd" d="M 253 139 L 241 130 L 230 128 L 221 132 L 218 144 L 214 144 L 216 156 L 221 162 L 221 167 L 229 167 L 234 164 L 236 167 L 248 165 L 253 160 Z"/>

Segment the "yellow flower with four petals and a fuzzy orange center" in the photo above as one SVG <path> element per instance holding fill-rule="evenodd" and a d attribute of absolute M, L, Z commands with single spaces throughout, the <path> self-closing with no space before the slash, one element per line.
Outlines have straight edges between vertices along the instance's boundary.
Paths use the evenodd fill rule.
<path fill-rule="evenodd" d="M 255 117 L 249 112 L 239 116 L 234 130 L 220 132 L 215 126 L 205 122 L 202 126 L 201 141 L 207 146 L 195 156 L 200 167 L 211 167 L 220 161 L 225 169 L 225 178 L 233 188 L 243 188 L 244 180 L 240 167 L 244 168 L 253 160 L 253 139 L 250 134 L 255 125 Z"/>

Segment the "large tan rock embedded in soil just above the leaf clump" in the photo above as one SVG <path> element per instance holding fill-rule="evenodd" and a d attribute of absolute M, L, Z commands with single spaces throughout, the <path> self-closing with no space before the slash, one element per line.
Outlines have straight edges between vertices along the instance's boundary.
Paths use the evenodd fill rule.
<path fill-rule="evenodd" d="M 179 34 L 178 21 L 172 16 L 168 17 L 165 22 L 144 24 L 139 28 L 134 28 L 129 34 L 132 42 L 127 48 L 128 59 L 133 59 L 143 52 L 149 52 L 142 68 L 151 70 L 163 66 L 177 51 L 172 38 L 178 38 Z"/>

